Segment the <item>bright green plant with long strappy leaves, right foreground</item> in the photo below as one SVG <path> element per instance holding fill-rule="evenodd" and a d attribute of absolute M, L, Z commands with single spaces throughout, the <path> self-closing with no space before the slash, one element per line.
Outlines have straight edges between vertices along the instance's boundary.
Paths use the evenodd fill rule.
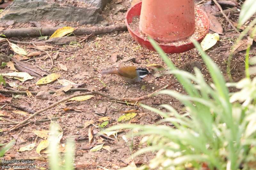
<path fill-rule="evenodd" d="M 256 3 L 252 0 L 245 2 L 249 1 L 251 5 Z M 246 8 L 243 6 L 242 11 L 244 9 Z M 255 8 L 251 10 L 255 11 Z M 244 23 L 246 20 L 240 19 L 240 22 Z M 251 22 L 250 28 L 255 23 L 256 19 Z M 245 30 L 237 41 L 242 39 L 246 31 L 249 30 Z M 255 28 L 252 32 L 256 32 Z M 226 83 L 218 66 L 192 40 L 211 74 L 213 83 L 208 85 L 199 69 L 194 68 L 195 75 L 178 70 L 156 42 L 152 39 L 150 42 L 168 66 L 168 73 L 174 74 L 187 92 L 184 95 L 173 90 L 162 90 L 156 95 L 165 94 L 177 98 L 186 106 L 186 111 L 179 114 L 172 106 L 164 104 L 160 106 L 167 110 L 164 112 L 140 104 L 164 119 L 156 125 L 122 124 L 107 130 L 138 130 L 133 135 L 143 135 L 141 143 L 148 145 L 133 156 L 157 151 L 156 157 L 149 162 L 150 169 L 255 169 L 256 78 L 251 80 L 250 73 L 256 72 L 256 69 L 249 68 L 250 48 L 245 56 L 246 78 L 237 83 Z M 252 58 L 251 63 L 255 64 L 256 58 Z M 228 87 L 231 86 L 240 90 L 229 93 Z M 162 125 L 166 122 L 175 128 Z"/>

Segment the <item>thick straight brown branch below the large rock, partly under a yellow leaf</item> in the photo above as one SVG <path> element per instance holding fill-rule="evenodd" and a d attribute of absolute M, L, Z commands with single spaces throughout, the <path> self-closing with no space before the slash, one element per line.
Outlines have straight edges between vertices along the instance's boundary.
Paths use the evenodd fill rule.
<path fill-rule="evenodd" d="M 0 32 L 4 34 L 6 38 L 10 37 L 38 37 L 52 35 L 59 27 L 33 27 L 33 28 L 14 28 L 7 29 Z M 98 35 L 106 34 L 114 31 L 126 31 L 126 25 L 112 25 L 106 27 L 88 27 L 88 28 L 76 28 L 73 32 L 75 35 Z M 41 35 L 40 35 L 41 32 Z"/>

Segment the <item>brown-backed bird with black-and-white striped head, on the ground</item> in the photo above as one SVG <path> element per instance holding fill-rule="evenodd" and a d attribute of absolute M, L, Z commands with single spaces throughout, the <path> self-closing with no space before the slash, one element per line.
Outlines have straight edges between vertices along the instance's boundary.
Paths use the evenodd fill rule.
<path fill-rule="evenodd" d="M 137 68 L 136 66 L 125 66 L 117 69 L 103 70 L 101 74 L 117 74 L 128 83 L 136 83 L 141 81 L 148 75 L 146 68 Z"/>

